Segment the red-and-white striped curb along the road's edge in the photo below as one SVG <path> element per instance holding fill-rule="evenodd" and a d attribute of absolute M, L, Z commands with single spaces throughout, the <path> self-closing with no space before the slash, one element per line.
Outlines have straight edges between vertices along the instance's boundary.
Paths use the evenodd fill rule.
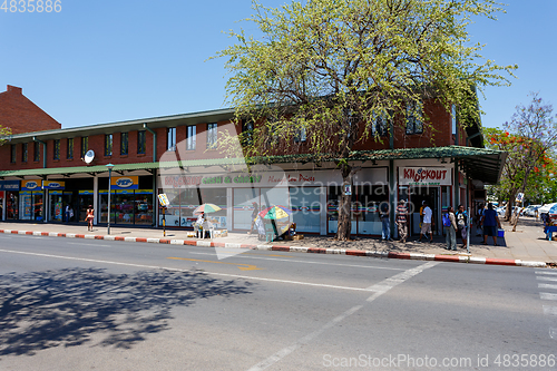
<path fill-rule="evenodd" d="M 395 253 L 395 252 L 345 250 L 345 248 L 323 248 L 323 247 L 302 247 L 302 246 L 281 246 L 281 245 L 252 245 L 252 244 L 224 243 L 224 242 L 211 242 L 211 241 L 124 237 L 124 236 L 113 236 L 113 235 L 74 234 L 74 233 L 57 233 L 57 232 L 31 232 L 31 231 L 13 231 L 13 230 L 0 230 L 0 233 L 35 235 L 35 236 L 49 236 L 49 237 L 84 238 L 84 240 L 144 242 L 144 243 L 155 243 L 155 244 L 189 245 L 189 246 L 198 246 L 198 247 L 250 248 L 250 250 L 262 250 L 262 251 L 278 251 L 278 252 L 286 252 L 286 253 L 339 254 L 339 255 L 351 255 L 351 256 L 404 258 L 404 260 L 437 261 L 437 262 L 451 262 L 451 263 L 470 263 L 470 264 L 489 264 L 489 265 L 508 265 L 508 266 L 528 266 L 528 267 L 547 267 L 548 266 L 544 262 L 521 261 L 519 258 L 510 260 L 510 258 L 495 258 L 495 257 L 437 255 L 437 254 L 421 254 L 421 253 Z"/>

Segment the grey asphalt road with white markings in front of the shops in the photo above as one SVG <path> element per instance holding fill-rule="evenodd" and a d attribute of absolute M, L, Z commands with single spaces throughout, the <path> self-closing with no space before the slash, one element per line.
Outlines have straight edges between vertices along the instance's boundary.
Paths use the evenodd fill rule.
<path fill-rule="evenodd" d="M 1 235 L 0 370 L 557 369 L 555 270 L 235 253 Z"/>

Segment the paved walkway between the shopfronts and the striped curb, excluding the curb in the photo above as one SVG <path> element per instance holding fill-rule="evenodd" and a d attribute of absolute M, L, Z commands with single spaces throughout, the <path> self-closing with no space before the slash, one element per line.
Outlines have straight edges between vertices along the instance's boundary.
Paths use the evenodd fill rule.
<path fill-rule="evenodd" d="M 498 238 L 498 246 L 494 246 L 491 237 L 488 237 L 488 245 L 482 245 L 482 237 L 476 236 L 472 233 L 470 243 L 470 253 L 461 248 L 462 244 L 458 241 L 459 250 L 457 252 L 444 250 L 444 237 L 433 236 L 433 242 L 423 243 L 417 242 L 417 236 L 413 236 L 405 244 L 394 242 L 382 242 L 380 238 L 358 238 L 352 242 L 333 241 L 330 236 L 312 236 L 306 235 L 301 241 L 275 241 L 265 243 L 258 241 L 256 235 L 246 233 L 229 233 L 226 237 L 216 237 L 211 240 L 218 245 L 240 244 L 240 245 L 273 245 L 273 246 L 300 246 L 300 247 L 317 247 L 329 250 L 355 250 L 355 251 L 373 251 L 378 253 L 397 254 L 424 254 L 424 255 L 458 255 L 473 256 L 480 258 L 497 258 L 497 260 L 520 260 L 532 262 L 545 262 L 550 266 L 556 266 L 557 263 L 557 242 L 546 240 L 543 231 L 541 222 L 535 221 L 532 217 L 522 217 L 517 226 L 517 232 L 511 232 L 511 226 L 504 223 L 505 237 Z M 92 232 L 87 231 L 87 226 L 77 224 L 31 224 L 31 223 L 0 223 L 0 230 L 8 231 L 26 231 L 26 232 L 46 232 L 59 234 L 79 234 L 79 235 L 107 235 L 106 226 L 95 226 Z M 165 238 L 169 241 L 199 241 L 194 237 L 188 237 L 185 230 L 167 230 L 164 236 L 163 230 L 158 228 L 140 228 L 140 227 L 124 227 L 116 226 L 110 228 L 111 236 L 119 236 L 134 241 L 134 238 Z M 472 228 L 476 232 L 476 228 Z M 556 234 L 557 235 L 557 234 Z M 128 238 L 125 238 L 128 237 Z M 206 240 L 208 243 L 208 240 Z M 186 243 L 190 244 L 190 243 Z M 391 256 L 391 255 L 390 255 Z"/>

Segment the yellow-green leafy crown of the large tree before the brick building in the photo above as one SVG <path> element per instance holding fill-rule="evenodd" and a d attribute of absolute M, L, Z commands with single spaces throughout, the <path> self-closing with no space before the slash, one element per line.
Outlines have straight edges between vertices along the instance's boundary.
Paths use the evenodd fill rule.
<path fill-rule="evenodd" d="M 253 9 L 247 21 L 262 37 L 231 31 L 237 42 L 217 53 L 227 59 L 237 120 L 257 123 L 247 156 L 292 149 L 303 131 L 312 153 L 344 157 L 359 140 L 379 140 L 379 117 L 404 125 L 395 116 L 414 107 L 427 121 L 422 104 L 431 98 L 476 118 L 475 87 L 507 85 L 501 72 L 516 68 L 483 60 L 481 45 L 469 42 L 473 16 L 502 10 L 492 0 L 313 0 L 280 9 L 253 1 Z"/>

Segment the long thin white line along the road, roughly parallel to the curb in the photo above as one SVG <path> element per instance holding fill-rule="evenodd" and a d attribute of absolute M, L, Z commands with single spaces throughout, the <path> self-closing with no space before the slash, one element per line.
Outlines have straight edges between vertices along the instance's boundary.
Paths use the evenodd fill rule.
<path fill-rule="evenodd" d="M 61 255 L 51 255 L 51 254 L 41 254 L 41 253 L 28 253 L 28 252 L 11 251 L 11 250 L 0 250 L 0 252 L 1 253 L 32 255 L 32 256 L 42 256 L 42 257 L 52 257 L 52 258 L 62 258 L 62 260 L 69 260 L 69 261 L 80 261 L 80 262 L 88 262 L 88 263 L 134 266 L 134 267 L 148 269 L 148 270 L 166 270 L 166 271 L 175 271 L 175 272 L 188 272 L 189 271 L 189 270 L 175 269 L 175 267 L 168 267 L 168 266 L 120 263 L 120 262 L 100 261 L 100 260 L 86 258 L 86 257 L 72 257 L 72 256 L 61 256 Z M 203 271 L 203 272 L 206 273 L 206 274 L 211 274 L 211 275 L 218 275 L 218 276 L 234 277 L 234 279 L 242 279 L 242 280 L 255 280 L 255 281 L 265 281 L 265 282 L 277 282 L 277 283 L 286 283 L 286 284 L 296 284 L 296 285 L 305 285 L 305 286 L 324 287 L 324 289 L 339 289 L 339 290 L 363 291 L 363 292 L 369 292 L 370 291 L 370 290 L 364 289 L 364 287 L 336 286 L 336 285 L 326 285 L 326 284 L 322 284 L 322 283 L 309 283 L 309 282 L 300 282 L 300 281 L 264 279 L 264 277 L 255 277 L 255 276 L 248 276 L 248 275 L 216 273 L 216 272 L 208 272 L 208 271 Z"/>

